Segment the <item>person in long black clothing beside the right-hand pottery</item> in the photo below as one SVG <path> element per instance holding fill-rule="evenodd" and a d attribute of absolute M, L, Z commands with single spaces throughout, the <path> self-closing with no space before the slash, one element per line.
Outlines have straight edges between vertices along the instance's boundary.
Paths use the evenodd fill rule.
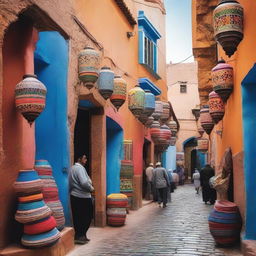
<path fill-rule="evenodd" d="M 205 167 L 200 172 L 200 182 L 202 186 L 202 196 L 203 201 L 207 204 L 210 201 L 211 204 L 214 204 L 216 200 L 216 191 L 210 187 L 209 180 L 214 176 L 214 169 L 206 164 Z"/>

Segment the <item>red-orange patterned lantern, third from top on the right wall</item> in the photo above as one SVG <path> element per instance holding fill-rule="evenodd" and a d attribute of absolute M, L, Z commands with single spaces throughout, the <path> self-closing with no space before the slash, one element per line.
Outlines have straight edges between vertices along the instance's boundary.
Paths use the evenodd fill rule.
<path fill-rule="evenodd" d="M 214 91 L 209 94 L 209 112 L 215 124 L 222 120 L 225 114 L 225 106 L 223 100 L 218 95 L 218 93 Z"/>

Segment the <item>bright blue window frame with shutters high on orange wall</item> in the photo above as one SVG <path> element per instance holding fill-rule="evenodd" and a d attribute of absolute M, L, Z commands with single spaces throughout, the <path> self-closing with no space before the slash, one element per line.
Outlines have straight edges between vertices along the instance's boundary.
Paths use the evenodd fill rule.
<path fill-rule="evenodd" d="M 158 72 L 157 40 L 161 35 L 144 15 L 144 11 L 139 11 L 139 63 L 153 74 L 156 79 L 160 79 Z"/>

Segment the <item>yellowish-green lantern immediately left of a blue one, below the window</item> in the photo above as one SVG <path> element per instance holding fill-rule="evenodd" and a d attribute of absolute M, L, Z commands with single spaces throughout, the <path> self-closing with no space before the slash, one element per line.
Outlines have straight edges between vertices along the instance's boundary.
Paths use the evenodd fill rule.
<path fill-rule="evenodd" d="M 136 85 L 128 92 L 128 108 L 135 117 L 139 117 L 144 110 L 145 91 Z"/>

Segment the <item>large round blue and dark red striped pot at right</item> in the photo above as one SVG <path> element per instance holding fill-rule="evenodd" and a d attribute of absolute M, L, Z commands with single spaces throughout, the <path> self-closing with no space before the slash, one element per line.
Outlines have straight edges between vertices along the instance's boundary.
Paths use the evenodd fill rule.
<path fill-rule="evenodd" d="M 208 222 L 211 235 L 217 244 L 230 246 L 240 240 L 242 219 L 236 204 L 216 201 Z"/>

